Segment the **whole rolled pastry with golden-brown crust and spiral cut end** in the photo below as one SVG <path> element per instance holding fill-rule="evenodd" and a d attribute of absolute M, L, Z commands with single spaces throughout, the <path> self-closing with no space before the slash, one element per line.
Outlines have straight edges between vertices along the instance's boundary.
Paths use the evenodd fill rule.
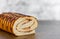
<path fill-rule="evenodd" d="M 0 14 L 0 29 L 16 36 L 35 33 L 38 22 L 35 17 L 15 12 Z"/>

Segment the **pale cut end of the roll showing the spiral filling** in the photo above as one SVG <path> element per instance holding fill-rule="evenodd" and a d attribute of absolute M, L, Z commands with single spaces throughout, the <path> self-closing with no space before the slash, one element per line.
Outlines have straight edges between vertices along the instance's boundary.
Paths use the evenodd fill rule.
<path fill-rule="evenodd" d="M 34 17 L 21 17 L 13 26 L 13 33 L 17 36 L 35 33 L 38 23 Z"/>

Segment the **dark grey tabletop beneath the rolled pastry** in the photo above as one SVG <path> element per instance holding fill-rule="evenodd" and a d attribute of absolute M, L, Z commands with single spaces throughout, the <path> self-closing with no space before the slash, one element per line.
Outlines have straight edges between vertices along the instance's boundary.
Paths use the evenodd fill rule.
<path fill-rule="evenodd" d="M 60 39 L 60 21 L 39 21 L 35 34 L 20 37 L 0 30 L 0 39 Z"/>

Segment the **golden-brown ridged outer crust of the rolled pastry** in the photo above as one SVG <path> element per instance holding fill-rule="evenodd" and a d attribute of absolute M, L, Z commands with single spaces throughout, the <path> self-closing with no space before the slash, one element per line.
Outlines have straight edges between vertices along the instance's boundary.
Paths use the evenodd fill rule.
<path fill-rule="evenodd" d="M 3 12 L 0 14 L 0 28 L 8 32 L 12 32 L 14 22 L 20 17 L 31 17 L 28 15 L 15 13 L 15 12 Z M 28 20 L 28 19 L 27 19 Z M 29 19 L 30 21 L 30 19 Z"/>

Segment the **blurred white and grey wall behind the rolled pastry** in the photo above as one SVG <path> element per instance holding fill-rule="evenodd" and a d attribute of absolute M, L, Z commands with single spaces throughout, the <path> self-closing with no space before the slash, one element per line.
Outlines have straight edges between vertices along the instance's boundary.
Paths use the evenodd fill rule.
<path fill-rule="evenodd" d="M 19 12 L 38 20 L 60 20 L 60 0 L 0 0 L 0 12 Z"/>

